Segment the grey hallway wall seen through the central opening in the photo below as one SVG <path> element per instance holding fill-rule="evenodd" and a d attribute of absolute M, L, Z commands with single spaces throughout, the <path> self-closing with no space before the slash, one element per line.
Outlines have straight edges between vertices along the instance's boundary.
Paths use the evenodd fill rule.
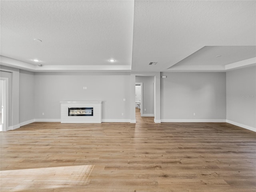
<path fill-rule="evenodd" d="M 143 83 L 142 115 L 152 114 L 154 116 L 154 76 L 136 76 L 136 83 Z"/>

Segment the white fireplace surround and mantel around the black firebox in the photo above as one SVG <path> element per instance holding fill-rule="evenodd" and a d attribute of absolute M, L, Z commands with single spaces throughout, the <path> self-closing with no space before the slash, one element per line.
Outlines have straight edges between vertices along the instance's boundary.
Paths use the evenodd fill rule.
<path fill-rule="evenodd" d="M 60 101 L 61 123 L 101 123 L 102 101 Z M 68 116 L 68 108 L 93 108 L 93 116 Z"/>

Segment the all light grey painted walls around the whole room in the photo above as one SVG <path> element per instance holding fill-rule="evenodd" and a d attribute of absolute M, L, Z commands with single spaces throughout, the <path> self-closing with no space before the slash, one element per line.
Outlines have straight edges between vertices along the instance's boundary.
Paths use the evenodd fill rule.
<path fill-rule="evenodd" d="M 135 122 L 135 81 L 144 83 L 145 101 L 153 95 L 154 76 L 32 73 L 5 66 L 1 66 L 0 75 L 9 79 L 9 130 L 33 119 L 60 120 L 60 101 L 64 100 L 102 100 L 103 121 Z M 161 78 L 159 86 L 161 105 L 156 106 L 158 114 L 161 109 L 161 117 L 157 120 L 207 122 L 227 119 L 232 124 L 256 131 L 255 66 L 227 73 L 164 72 L 161 75 L 167 78 Z M 144 108 L 153 114 L 153 102 L 147 103 Z"/>

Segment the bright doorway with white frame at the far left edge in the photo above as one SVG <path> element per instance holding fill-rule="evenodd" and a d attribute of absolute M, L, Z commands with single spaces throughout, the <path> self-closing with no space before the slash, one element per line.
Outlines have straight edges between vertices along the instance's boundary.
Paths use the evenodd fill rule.
<path fill-rule="evenodd" d="M 0 131 L 8 128 L 8 78 L 0 78 Z"/>

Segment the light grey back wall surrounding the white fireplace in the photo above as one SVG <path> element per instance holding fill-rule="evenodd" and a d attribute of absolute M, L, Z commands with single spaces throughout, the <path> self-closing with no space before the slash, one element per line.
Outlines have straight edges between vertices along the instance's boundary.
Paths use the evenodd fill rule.
<path fill-rule="evenodd" d="M 60 101 L 103 101 L 103 121 L 130 122 L 130 75 L 35 73 L 34 87 L 35 119 L 60 120 Z"/>

